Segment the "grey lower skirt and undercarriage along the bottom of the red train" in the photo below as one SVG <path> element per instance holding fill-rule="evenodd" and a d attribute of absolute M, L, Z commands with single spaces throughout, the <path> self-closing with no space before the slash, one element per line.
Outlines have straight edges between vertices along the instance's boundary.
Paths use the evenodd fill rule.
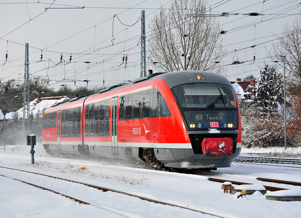
<path fill-rule="evenodd" d="M 239 152 L 227 156 L 206 156 L 204 154 L 195 154 L 193 149 L 154 149 L 137 147 L 119 147 L 119 155 L 112 153 L 106 156 L 100 155 L 98 148 L 88 145 L 71 146 L 71 151 L 53 149 L 56 146 L 48 144 L 43 145 L 46 153 L 51 156 L 81 156 L 98 159 L 124 160 L 133 164 L 148 165 L 151 168 L 172 171 L 173 169 L 199 169 L 203 171 L 216 170 L 218 167 L 230 167 L 231 162 L 236 159 Z M 90 148 L 91 147 L 91 148 Z M 239 148 L 240 149 L 240 148 Z M 108 149 L 109 150 L 109 149 Z M 123 154 L 123 155 L 120 155 Z"/>

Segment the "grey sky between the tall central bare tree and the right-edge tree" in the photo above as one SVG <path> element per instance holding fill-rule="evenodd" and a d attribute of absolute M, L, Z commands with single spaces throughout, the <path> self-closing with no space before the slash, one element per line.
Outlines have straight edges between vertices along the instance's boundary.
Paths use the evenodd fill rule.
<path fill-rule="evenodd" d="M 214 3 L 217 2 L 219 1 L 214 1 Z M 214 8 L 213 11 L 239 13 L 238 15 L 219 18 L 219 23 L 223 30 L 228 31 L 223 35 L 224 45 L 228 53 L 223 64 L 228 65 L 226 67 L 230 79 L 235 80 L 250 74 L 259 77 L 260 67 L 265 64 L 280 67 L 279 64 L 271 61 L 275 59 L 280 61 L 281 58 L 268 57 L 267 50 L 270 50 L 272 48 L 271 45 L 276 42 L 273 35 L 280 34 L 285 23 L 292 23 L 292 20 L 295 18 L 299 19 L 301 5 L 298 7 L 298 4 L 300 1 L 226 0 L 219 4 L 223 2 L 225 4 Z M 242 15 L 250 12 L 258 12 L 265 15 L 256 17 Z M 253 44 L 256 47 L 250 48 Z M 235 53 L 235 49 L 240 51 Z M 256 55 L 255 62 L 250 61 L 238 65 L 229 65 L 233 60 L 237 61 L 237 59 L 240 62 L 253 60 L 254 53 Z M 282 71 L 282 68 L 280 70 Z"/>

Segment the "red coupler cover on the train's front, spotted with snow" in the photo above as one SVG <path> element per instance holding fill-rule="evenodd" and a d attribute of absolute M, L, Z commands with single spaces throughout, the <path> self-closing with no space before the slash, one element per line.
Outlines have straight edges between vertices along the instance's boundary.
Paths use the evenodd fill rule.
<path fill-rule="evenodd" d="M 204 138 L 201 146 L 205 155 L 230 155 L 233 141 L 231 138 Z"/>

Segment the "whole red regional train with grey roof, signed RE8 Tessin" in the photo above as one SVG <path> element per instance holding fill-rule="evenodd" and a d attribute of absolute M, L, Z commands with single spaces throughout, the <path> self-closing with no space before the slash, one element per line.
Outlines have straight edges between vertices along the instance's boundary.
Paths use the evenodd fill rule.
<path fill-rule="evenodd" d="M 216 170 L 240 154 L 240 110 L 220 74 L 154 73 L 52 105 L 44 112 L 42 140 L 50 155 Z"/>

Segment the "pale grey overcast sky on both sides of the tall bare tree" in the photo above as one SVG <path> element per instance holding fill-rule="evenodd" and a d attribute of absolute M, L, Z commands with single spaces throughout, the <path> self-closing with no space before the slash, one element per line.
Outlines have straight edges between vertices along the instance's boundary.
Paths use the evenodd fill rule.
<path fill-rule="evenodd" d="M 23 81 L 25 43 L 29 43 L 30 73 L 41 75 L 46 80 L 49 77 L 49 84 L 56 88 L 61 84 L 75 87 L 73 80 L 76 80 L 76 86 L 85 86 L 86 82 L 80 80 L 86 79 L 91 80 L 89 86 L 101 86 L 103 79 L 105 86 L 118 84 L 124 80 L 134 80 L 140 77 L 141 47 L 137 44 L 141 35 L 141 22 L 138 20 L 141 17 L 141 10 L 145 10 L 147 26 L 161 5 L 169 7 L 170 0 L 56 0 L 51 5 L 52 8 L 82 5 L 86 8 L 48 9 L 45 12 L 45 8 L 51 3 L 53 1 L 49 0 L 27 0 L 27 4 L 25 0 L 0 1 L 2 83 L 8 79 L 20 78 Z M 237 58 L 241 62 L 253 60 L 254 48 L 248 47 L 252 44 L 257 45 L 254 63 L 250 61 L 226 66 L 230 80 L 250 74 L 258 77 L 259 68 L 264 65 L 264 61 L 274 64 L 269 62 L 272 61 L 271 58 L 265 59 L 267 54 L 265 47 L 271 48 L 273 34 L 281 33 L 284 23 L 291 23 L 292 19 L 299 18 L 299 15 L 292 14 L 298 14 L 301 10 L 301 6 L 298 8 L 299 2 L 293 0 L 268 0 L 264 3 L 262 0 L 209 0 L 208 7 L 210 4 L 212 14 L 239 13 L 236 16 L 218 17 L 222 28 L 228 31 L 222 35 L 227 56 L 220 64 L 231 64 Z M 262 10 L 265 16 L 242 15 L 249 12 L 262 13 Z M 126 25 L 132 25 L 137 20 L 138 23 L 131 27 L 124 26 L 115 17 L 113 24 L 114 14 L 117 14 L 121 22 Z M 113 46 L 112 30 L 115 38 Z M 240 51 L 234 53 L 235 49 Z M 41 50 L 43 50 L 43 61 L 37 62 L 40 60 Z M 6 51 L 8 51 L 8 59 L 5 62 Z M 61 53 L 65 62 L 57 64 L 60 62 Z M 72 61 L 66 64 L 69 62 L 70 53 L 72 53 Z M 126 68 L 125 63 L 119 66 L 123 54 L 128 54 Z M 151 64 L 149 66 L 152 68 Z"/>

